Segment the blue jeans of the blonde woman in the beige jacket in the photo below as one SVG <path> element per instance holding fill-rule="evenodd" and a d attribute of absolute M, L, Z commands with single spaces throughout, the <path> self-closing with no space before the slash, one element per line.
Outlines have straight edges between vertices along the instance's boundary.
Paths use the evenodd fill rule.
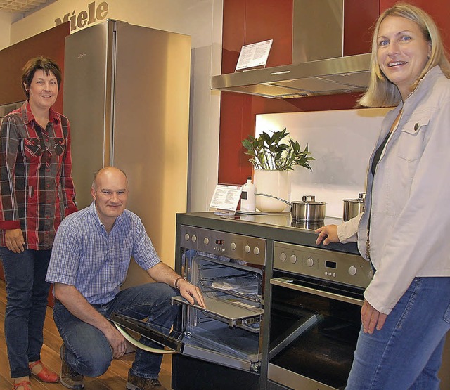
<path fill-rule="evenodd" d="M 381 330 L 359 332 L 346 389 L 439 389 L 449 329 L 450 278 L 415 278 Z"/>

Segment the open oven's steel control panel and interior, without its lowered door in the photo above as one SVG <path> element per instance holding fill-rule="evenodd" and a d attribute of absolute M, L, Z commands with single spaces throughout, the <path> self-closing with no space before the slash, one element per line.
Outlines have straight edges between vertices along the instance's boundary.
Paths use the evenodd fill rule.
<path fill-rule="evenodd" d="M 259 372 L 266 240 L 181 226 L 181 273 L 200 287 L 206 308 L 182 304 L 183 354 Z"/>

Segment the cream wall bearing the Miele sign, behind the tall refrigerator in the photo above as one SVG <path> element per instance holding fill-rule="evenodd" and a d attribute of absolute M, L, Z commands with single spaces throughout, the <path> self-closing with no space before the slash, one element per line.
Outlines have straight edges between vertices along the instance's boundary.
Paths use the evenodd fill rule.
<path fill-rule="evenodd" d="M 14 22 L 10 44 L 55 27 L 55 20 L 63 20 L 65 14 L 78 17 L 103 2 L 108 4 L 105 18 L 191 35 L 188 210 L 205 211 L 218 176 L 220 94 L 210 90 L 210 80 L 221 70 L 223 0 L 57 0 Z M 85 23 L 84 28 L 89 27 Z M 76 23 L 71 26 L 72 32 L 80 30 Z"/>

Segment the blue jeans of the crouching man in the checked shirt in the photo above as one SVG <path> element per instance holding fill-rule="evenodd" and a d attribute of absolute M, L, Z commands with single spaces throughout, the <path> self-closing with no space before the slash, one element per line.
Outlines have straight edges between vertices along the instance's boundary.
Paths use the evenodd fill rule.
<path fill-rule="evenodd" d="M 164 283 L 148 283 L 122 290 L 108 304 L 94 304 L 94 308 L 105 318 L 113 313 L 143 320 L 162 328 L 168 334 L 178 306 L 170 303 L 170 298 L 178 292 Z M 53 318 L 65 344 L 64 360 L 72 370 L 86 377 L 103 375 L 113 361 L 113 351 L 101 330 L 84 323 L 68 311 L 59 301 L 53 307 Z M 159 344 L 141 337 L 147 346 L 161 349 Z M 162 355 L 137 349 L 131 374 L 143 378 L 158 378 Z"/>

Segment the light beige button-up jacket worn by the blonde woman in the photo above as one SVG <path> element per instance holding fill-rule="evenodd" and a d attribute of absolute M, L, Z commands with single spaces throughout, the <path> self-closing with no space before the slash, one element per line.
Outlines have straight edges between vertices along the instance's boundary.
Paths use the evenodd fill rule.
<path fill-rule="evenodd" d="M 417 276 L 450 276 L 450 79 L 433 67 L 405 102 L 387 113 L 375 150 L 401 108 L 375 178 L 368 170 L 366 211 L 338 226 L 341 242 L 357 240 L 367 259 L 370 213 L 376 272 L 364 297 L 386 314 Z M 372 160 L 373 155 L 369 167 Z"/>

